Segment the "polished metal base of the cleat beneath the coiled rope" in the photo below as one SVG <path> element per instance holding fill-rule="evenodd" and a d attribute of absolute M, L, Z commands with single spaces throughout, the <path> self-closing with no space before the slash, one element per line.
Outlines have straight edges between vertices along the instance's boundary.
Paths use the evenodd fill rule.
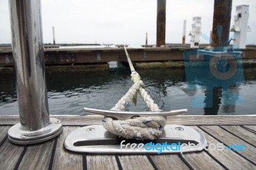
<path fill-rule="evenodd" d="M 159 153 L 160 150 L 161 153 L 183 153 L 203 150 L 207 146 L 207 140 L 200 132 L 184 125 L 165 125 L 163 135 L 154 141 L 122 139 L 106 131 L 102 125 L 90 125 L 69 134 L 64 146 L 73 152 L 86 153 L 136 154 Z"/>

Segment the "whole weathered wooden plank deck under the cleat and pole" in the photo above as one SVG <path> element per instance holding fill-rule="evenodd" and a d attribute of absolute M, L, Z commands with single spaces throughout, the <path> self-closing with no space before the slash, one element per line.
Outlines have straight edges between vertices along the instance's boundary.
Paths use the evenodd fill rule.
<path fill-rule="evenodd" d="M 168 124 L 193 127 L 208 143 L 244 145 L 245 151 L 203 150 L 160 155 L 94 155 L 65 150 L 70 132 L 84 125 L 101 124 L 102 117 L 52 116 L 63 122 L 58 138 L 42 144 L 19 146 L 8 141 L 7 132 L 19 123 L 17 116 L 0 117 L 0 169 L 256 169 L 256 116 L 177 116 Z"/>

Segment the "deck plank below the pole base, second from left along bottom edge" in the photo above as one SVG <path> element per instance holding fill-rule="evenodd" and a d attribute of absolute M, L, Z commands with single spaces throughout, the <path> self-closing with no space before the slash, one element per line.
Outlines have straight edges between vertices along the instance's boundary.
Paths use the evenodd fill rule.
<path fill-rule="evenodd" d="M 53 144 L 54 139 L 28 146 L 18 169 L 49 169 Z"/>

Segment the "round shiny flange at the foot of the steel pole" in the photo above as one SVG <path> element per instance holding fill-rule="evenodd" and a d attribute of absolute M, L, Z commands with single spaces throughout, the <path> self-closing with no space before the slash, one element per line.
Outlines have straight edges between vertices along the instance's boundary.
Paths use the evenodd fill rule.
<path fill-rule="evenodd" d="M 8 139 L 10 142 L 19 145 L 42 143 L 58 136 L 63 130 L 62 122 L 56 118 L 50 118 L 50 124 L 38 131 L 25 131 L 20 127 L 19 123 L 9 129 Z"/>

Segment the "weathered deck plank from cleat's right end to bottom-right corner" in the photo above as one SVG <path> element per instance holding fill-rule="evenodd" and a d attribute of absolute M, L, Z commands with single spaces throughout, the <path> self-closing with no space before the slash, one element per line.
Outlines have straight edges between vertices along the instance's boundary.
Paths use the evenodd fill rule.
<path fill-rule="evenodd" d="M 219 141 L 212 138 L 209 134 L 205 133 L 198 127 L 193 126 L 194 129 L 198 132 L 202 132 L 204 134 L 205 138 L 207 138 L 208 145 L 214 144 L 217 146 L 220 144 Z M 209 148 L 208 148 L 209 149 Z M 237 155 L 237 153 L 232 152 L 231 150 L 208 150 L 206 151 L 212 157 L 218 160 L 223 166 L 227 167 L 228 169 L 241 169 L 241 165 L 243 165 L 243 169 L 255 169 L 256 166 L 254 166 L 251 162 L 248 162 L 248 160 L 244 159 L 243 157 Z"/>

